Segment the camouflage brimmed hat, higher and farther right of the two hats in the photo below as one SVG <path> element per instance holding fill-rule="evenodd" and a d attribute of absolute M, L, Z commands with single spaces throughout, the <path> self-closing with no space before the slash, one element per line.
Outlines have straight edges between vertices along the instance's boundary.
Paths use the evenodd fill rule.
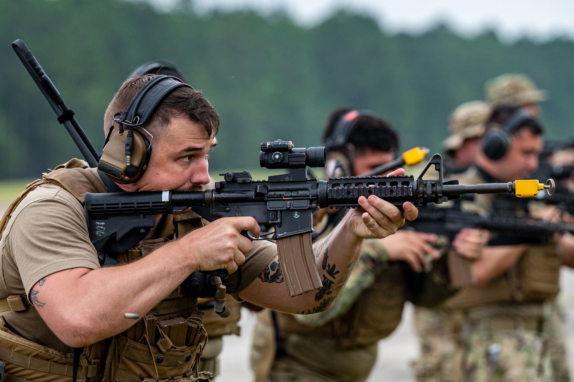
<path fill-rule="evenodd" d="M 508 73 L 486 81 L 486 100 L 493 107 L 499 105 L 524 106 L 545 101 L 546 91 L 540 90 L 528 76 Z"/>

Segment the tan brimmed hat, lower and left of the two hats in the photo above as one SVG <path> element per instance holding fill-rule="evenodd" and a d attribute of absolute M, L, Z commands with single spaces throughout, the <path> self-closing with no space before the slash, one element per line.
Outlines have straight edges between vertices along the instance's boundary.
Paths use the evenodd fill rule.
<path fill-rule="evenodd" d="M 450 135 L 443 142 L 444 150 L 459 149 L 465 139 L 482 137 L 490 111 L 490 106 L 483 101 L 465 102 L 457 107 L 449 117 Z"/>

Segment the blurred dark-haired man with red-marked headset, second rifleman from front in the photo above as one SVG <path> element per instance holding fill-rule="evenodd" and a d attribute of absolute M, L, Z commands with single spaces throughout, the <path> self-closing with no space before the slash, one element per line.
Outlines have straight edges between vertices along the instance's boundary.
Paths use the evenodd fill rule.
<path fill-rule="evenodd" d="M 397 133 L 388 123 L 369 112 L 349 108 L 329 116 L 323 141 L 328 147 L 329 175 L 336 171 L 335 162 L 346 167 L 343 173 L 347 175 L 365 173 L 395 159 L 399 147 Z M 343 215 L 337 212 L 324 220 L 336 221 Z M 326 233 L 328 229 L 321 235 Z M 405 268 L 421 272 L 430 259 L 440 256 L 433 247 L 433 234 L 401 229 L 395 236 L 392 241 L 366 241 L 347 284 L 328 312 L 259 313 L 251 354 L 255 381 L 367 379 L 377 358 L 377 342 L 389 336 L 401 320 L 409 295 Z M 437 285 L 447 288 L 448 280 L 443 286 Z M 319 290 L 317 297 L 321 293 Z"/>

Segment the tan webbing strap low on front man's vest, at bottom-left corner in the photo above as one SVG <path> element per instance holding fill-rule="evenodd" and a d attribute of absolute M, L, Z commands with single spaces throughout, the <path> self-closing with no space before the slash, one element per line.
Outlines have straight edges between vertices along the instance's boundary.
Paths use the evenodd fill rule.
<path fill-rule="evenodd" d="M 24 356 L 13 350 L 0 347 L 0 360 L 5 364 L 13 364 L 22 368 L 38 371 L 46 374 L 56 374 L 61 376 L 72 376 L 72 365 L 63 365 L 54 361 L 46 361 L 41 358 Z M 78 376 L 80 379 L 95 377 L 98 373 L 98 365 L 80 366 Z"/>

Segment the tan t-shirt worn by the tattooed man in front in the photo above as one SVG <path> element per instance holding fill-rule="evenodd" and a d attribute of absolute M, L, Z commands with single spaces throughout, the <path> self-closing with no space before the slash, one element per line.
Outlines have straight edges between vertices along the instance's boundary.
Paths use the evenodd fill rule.
<path fill-rule="evenodd" d="M 82 204 L 66 190 L 50 184 L 32 190 L 14 210 L 0 238 L 0 254 L 0 298 L 10 294 L 30 296 L 34 284 L 55 272 L 100 267 Z M 276 255 L 273 243 L 255 242 L 241 267 L 242 282 L 237 292 L 257 278 Z M 60 352 L 71 352 L 34 307 L 2 315 L 22 337 Z"/>

